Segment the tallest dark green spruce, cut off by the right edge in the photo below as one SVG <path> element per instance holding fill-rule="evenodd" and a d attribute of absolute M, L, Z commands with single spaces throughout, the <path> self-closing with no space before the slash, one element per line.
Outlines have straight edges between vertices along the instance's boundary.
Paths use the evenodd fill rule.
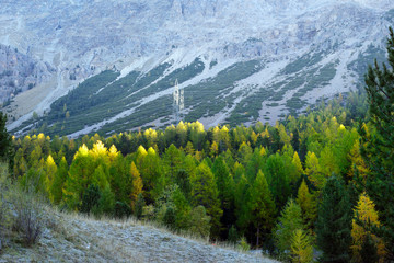
<path fill-rule="evenodd" d="M 387 260 L 394 261 L 394 33 L 387 38 L 389 67 L 376 60 L 366 76 L 366 90 L 371 116 L 371 136 L 361 134 L 361 156 L 369 169 L 368 176 L 358 180 L 361 191 L 376 205 L 381 226 L 372 232 L 381 237 L 387 249 Z"/>

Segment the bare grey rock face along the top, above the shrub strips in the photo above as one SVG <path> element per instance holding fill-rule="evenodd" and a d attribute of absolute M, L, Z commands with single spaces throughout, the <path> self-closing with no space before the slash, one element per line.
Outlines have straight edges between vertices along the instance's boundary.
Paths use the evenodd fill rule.
<path fill-rule="evenodd" d="M 255 57 L 328 39 L 373 39 L 392 8 L 390 0 L 16 0 L 2 3 L 0 43 L 59 70 L 79 65 L 89 76 L 92 66 L 173 46 Z"/>

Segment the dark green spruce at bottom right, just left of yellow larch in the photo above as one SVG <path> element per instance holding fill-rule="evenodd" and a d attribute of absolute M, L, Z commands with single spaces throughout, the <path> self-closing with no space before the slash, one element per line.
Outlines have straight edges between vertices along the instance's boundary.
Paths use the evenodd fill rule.
<path fill-rule="evenodd" d="M 351 205 L 345 185 L 336 176 L 327 180 L 322 192 L 316 224 L 321 262 L 349 262 Z"/>

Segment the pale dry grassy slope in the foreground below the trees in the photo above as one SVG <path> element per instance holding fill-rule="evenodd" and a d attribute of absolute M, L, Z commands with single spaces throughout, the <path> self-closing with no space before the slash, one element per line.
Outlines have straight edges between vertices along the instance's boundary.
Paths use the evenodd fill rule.
<path fill-rule="evenodd" d="M 50 209 L 43 218 L 38 243 L 32 248 L 9 244 L 0 262 L 277 262 L 132 220 L 97 221 Z"/>

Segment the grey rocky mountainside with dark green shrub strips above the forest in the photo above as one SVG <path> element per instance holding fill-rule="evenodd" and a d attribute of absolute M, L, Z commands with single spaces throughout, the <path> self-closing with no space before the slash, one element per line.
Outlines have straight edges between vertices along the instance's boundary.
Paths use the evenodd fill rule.
<path fill-rule="evenodd" d="M 14 99 L 9 127 L 79 136 L 164 126 L 175 79 L 185 121 L 273 123 L 355 90 L 384 57 L 393 9 L 390 0 L 9 1 L 0 43 L 56 69 Z M 91 93 L 85 82 L 74 89 L 89 103 L 58 100 L 106 69 L 114 75 L 90 81 Z M 42 118 L 27 121 L 33 112 Z"/>

